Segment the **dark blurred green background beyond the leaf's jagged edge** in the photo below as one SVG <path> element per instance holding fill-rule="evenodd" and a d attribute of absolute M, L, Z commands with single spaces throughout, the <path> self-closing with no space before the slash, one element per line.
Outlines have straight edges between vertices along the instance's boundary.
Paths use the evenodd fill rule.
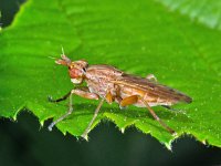
<path fill-rule="evenodd" d="M 11 23 L 22 2 L 0 0 L 2 27 Z M 0 165 L 221 165 L 221 149 L 186 136 L 177 139 L 169 152 L 133 127 L 122 134 L 110 122 L 92 131 L 87 143 L 63 136 L 55 128 L 41 128 L 27 111 L 20 113 L 15 123 L 0 121 Z"/>

